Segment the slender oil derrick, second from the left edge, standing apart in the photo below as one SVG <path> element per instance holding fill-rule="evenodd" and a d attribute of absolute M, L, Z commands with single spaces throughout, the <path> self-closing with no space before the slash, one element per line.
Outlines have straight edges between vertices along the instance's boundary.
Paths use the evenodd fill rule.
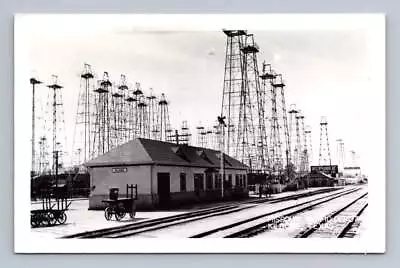
<path fill-rule="evenodd" d="M 61 89 L 63 88 L 58 84 L 58 77 L 52 75 L 52 81 L 47 87 L 50 89 L 52 98 L 52 174 L 55 175 L 57 184 L 57 175 L 59 169 L 63 167 L 63 146 L 65 146 L 65 132 L 64 132 L 64 112 Z M 63 141 L 63 143 L 61 142 Z"/>

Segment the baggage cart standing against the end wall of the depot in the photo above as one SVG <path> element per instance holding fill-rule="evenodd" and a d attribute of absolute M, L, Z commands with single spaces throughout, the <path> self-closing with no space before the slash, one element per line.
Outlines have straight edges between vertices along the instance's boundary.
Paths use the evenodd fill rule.
<path fill-rule="evenodd" d="M 137 184 L 126 185 L 126 197 L 118 197 L 118 188 L 111 188 L 109 199 L 102 200 L 107 206 L 104 209 L 104 217 L 106 220 L 111 220 L 114 215 L 117 221 L 122 220 L 128 213 L 131 219 L 135 218 L 136 215 L 136 204 L 137 200 Z M 135 193 L 134 193 L 135 192 Z"/>

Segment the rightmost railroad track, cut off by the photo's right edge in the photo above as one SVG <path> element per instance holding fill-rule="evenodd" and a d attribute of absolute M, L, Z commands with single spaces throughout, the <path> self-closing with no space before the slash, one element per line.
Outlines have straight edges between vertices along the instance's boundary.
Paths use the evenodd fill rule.
<path fill-rule="evenodd" d="M 313 226 L 304 229 L 296 237 L 343 238 L 356 219 L 368 206 L 368 193 L 364 193 L 345 206 L 329 213 Z M 346 237 L 351 237 L 347 235 Z"/>

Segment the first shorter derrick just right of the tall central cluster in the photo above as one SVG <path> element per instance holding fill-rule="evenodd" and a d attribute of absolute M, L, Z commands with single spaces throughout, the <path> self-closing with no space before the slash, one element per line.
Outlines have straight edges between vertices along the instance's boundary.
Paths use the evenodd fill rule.
<path fill-rule="evenodd" d="M 299 169 L 299 145 L 300 145 L 300 128 L 297 119 L 298 110 L 296 109 L 296 104 L 291 104 L 289 109 L 289 134 L 291 141 L 291 159 L 296 170 Z"/>

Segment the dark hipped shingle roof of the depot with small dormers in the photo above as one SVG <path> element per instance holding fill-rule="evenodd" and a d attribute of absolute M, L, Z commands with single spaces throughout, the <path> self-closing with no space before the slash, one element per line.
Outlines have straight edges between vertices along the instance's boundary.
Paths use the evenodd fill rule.
<path fill-rule="evenodd" d="M 224 168 L 248 169 L 246 165 L 226 154 L 224 159 Z M 137 138 L 115 147 L 104 155 L 86 162 L 84 165 L 87 167 L 101 167 L 151 164 L 219 168 L 220 152 L 206 148 Z"/>

